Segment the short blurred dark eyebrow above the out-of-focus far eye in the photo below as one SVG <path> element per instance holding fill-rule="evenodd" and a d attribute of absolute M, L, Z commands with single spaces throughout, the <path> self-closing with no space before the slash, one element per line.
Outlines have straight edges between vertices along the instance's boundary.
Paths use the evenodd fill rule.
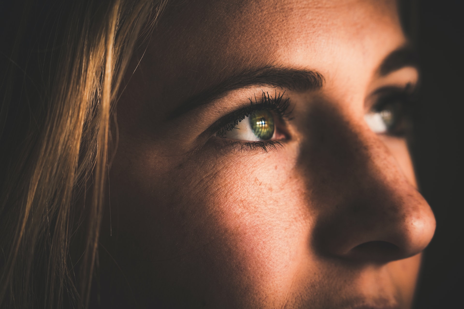
<path fill-rule="evenodd" d="M 404 67 L 418 68 L 417 55 L 409 44 L 393 50 L 380 64 L 378 74 L 387 76 Z"/>

